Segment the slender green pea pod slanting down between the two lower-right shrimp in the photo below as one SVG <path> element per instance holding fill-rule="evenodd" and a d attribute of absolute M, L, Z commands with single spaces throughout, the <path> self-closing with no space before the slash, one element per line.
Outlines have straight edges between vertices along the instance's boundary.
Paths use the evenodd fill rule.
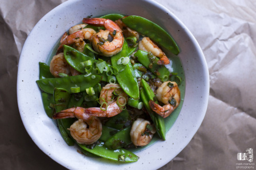
<path fill-rule="evenodd" d="M 146 81 L 144 79 L 141 80 L 141 84 L 142 84 L 142 88 L 140 89 L 141 100 L 144 103 L 144 106 L 145 106 L 148 114 L 150 114 L 150 117 L 151 117 L 153 123 L 155 124 L 155 127 L 156 127 L 159 137 L 161 139 L 165 140 L 164 118 L 161 117 L 160 115 L 158 115 L 157 113 L 155 113 L 151 109 L 150 105 L 148 104 L 148 102 L 150 102 L 150 100 L 153 100 L 157 103 L 156 96 L 155 96 L 153 90 L 150 88 L 150 86 L 146 83 Z"/>

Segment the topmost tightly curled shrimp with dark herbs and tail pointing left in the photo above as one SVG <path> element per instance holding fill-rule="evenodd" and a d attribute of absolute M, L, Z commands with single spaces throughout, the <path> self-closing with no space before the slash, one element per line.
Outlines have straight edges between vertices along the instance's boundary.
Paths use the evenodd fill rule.
<path fill-rule="evenodd" d="M 114 21 L 104 18 L 83 18 L 82 21 L 94 26 L 104 26 L 106 29 L 100 30 L 97 34 L 92 36 L 95 51 L 105 57 L 111 57 L 122 50 L 124 42 L 122 30 Z M 111 42 L 108 41 L 109 35 L 113 37 Z"/>

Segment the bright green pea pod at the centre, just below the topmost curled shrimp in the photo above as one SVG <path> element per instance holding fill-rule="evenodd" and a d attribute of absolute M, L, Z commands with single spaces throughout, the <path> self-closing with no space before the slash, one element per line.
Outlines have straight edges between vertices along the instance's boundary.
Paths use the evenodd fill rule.
<path fill-rule="evenodd" d="M 139 99 L 139 85 L 131 62 L 129 61 L 125 65 L 117 64 L 121 57 L 127 56 L 127 48 L 127 42 L 124 40 L 122 51 L 111 57 L 111 63 L 113 67 L 118 69 L 115 75 L 123 91 L 131 96 L 131 98 Z"/>

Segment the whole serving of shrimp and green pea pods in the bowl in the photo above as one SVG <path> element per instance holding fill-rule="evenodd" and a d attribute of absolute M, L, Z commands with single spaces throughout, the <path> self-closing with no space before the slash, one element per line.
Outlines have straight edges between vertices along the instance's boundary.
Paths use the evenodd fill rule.
<path fill-rule="evenodd" d="M 164 29 L 135 15 L 83 18 L 55 49 L 48 64 L 39 62 L 36 83 L 68 145 L 135 162 L 131 150 L 153 136 L 165 140 L 165 118 L 180 105 L 184 80 L 167 68 L 172 60 L 162 49 L 178 55 L 179 48 Z"/>

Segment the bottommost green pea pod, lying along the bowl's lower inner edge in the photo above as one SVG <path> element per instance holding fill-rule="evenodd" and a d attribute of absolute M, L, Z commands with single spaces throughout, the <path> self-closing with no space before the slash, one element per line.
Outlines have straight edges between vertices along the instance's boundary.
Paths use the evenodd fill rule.
<path fill-rule="evenodd" d="M 132 153 L 131 151 L 127 151 L 125 149 L 117 149 L 117 150 L 110 150 L 106 148 L 103 145 L 103 142 L 100 144 L 97 144 L 93 149 L 89 149 L 84 144 L 79 144 L 79 147 L 81 147 L 83 150 L 86 150 L 90 153 L 93 153 L 95 155 L 98 155 L 100 157 L 114 160 L 114 161 L 120 161 L 120 162 L 136 162 L 138 161 L 139 157 Z"/>

